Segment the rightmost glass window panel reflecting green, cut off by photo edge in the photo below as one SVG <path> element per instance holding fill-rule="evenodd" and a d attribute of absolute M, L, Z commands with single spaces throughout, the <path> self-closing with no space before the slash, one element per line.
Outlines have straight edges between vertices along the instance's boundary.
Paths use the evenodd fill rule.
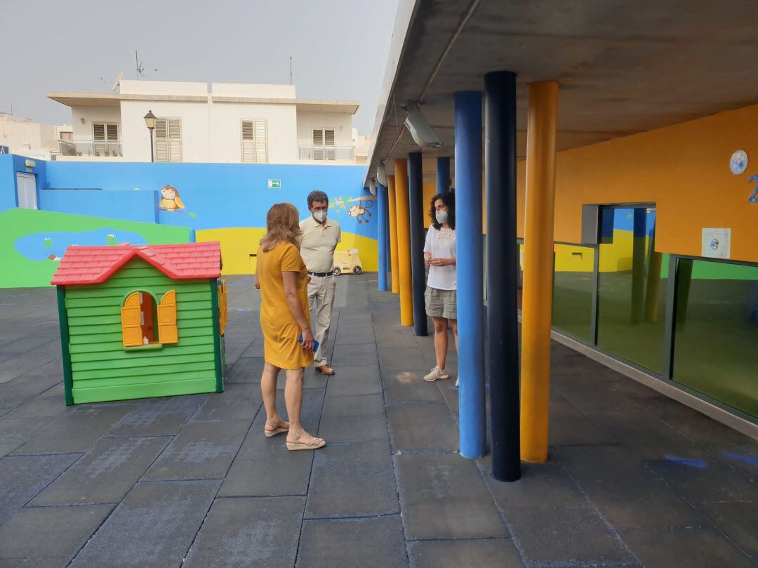
<path fill-rule="evenodd" d="M 758 417 L 758 266 L 679 259 L 673 379 Z"/>

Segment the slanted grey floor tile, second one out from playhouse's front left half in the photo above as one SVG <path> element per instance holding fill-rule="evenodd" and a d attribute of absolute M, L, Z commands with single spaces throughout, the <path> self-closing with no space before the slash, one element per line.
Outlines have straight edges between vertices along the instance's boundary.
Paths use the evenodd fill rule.
<path fill-rule="evenodd" d="M 102 438 L 32 504 L 117 503 L 169 441 L 168 437 Z"/>

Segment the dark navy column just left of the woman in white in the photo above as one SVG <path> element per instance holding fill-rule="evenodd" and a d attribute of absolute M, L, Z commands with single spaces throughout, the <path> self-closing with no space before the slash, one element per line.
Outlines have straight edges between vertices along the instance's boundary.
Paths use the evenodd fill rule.
<path fill-rule="evenodd" d="M 417 337 L 426 337 L 427 316 L 424 292 L 424 173 L 421 169 L 421 152 L 408 154 L 408 208 L 411 218 L 411 274 L 413 283 L 413 331 Z"/>

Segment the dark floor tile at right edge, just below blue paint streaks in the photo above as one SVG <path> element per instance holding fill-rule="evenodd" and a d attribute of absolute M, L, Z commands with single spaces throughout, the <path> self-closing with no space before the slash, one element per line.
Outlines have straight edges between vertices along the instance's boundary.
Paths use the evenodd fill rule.
<path fill-rule="evenodd" d="M 756 486 L 719 460 L 679 457 L 647 463 L 648 468 L 688 503 L 755 501 Z"/>

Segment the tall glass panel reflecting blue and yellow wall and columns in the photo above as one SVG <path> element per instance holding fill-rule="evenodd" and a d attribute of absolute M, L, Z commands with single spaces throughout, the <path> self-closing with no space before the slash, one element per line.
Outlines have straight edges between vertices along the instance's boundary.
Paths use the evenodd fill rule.
<path fill-rule="evenodd" d="M 667 275 L 653 252 L 655 218 L 644 207 L 601 209 L 597 345 L 662 373 Z"/>

